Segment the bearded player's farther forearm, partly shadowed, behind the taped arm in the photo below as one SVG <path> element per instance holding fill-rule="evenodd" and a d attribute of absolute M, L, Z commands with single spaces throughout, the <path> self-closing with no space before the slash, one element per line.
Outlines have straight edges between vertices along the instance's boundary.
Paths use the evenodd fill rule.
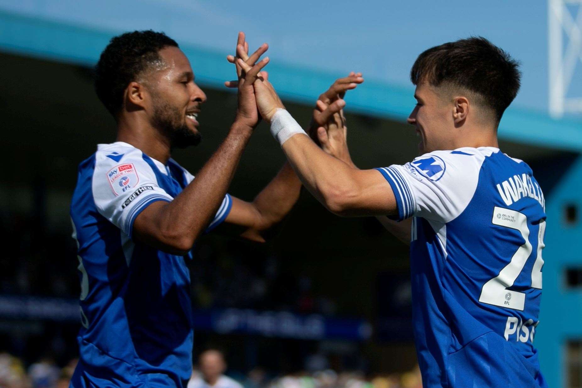
<path fill-rule="evenodd" d="M 301 181 L 289 163 L 285 163 L 253 200 L 261 218 L 258 229 L 266 230 L 281 222 L 297 202 L 300 190 Z"/>

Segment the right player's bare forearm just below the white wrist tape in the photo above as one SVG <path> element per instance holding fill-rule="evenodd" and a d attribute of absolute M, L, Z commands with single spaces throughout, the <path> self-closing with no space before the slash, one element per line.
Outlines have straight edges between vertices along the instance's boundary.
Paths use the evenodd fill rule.
<path fill-rule="evenodd" d="M 349 198 L 357 195 L 354 169 L 326 154 L 303 134 L 292 136 L 282 148 L 307 190 L 329 211 L 342 214 Z"/>

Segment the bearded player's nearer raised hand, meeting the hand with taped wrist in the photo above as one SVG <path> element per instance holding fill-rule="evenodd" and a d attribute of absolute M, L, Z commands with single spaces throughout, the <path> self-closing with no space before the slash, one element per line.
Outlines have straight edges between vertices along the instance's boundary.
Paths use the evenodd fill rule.
<path fill-rule="evenodd" d="M 236 121 L 244 124 L 250 128 L 255 128 L 260 120 L 260 116 L 257 111 L 257 103 L 254 94 L 253 83 L 257 79 L 258 74 L 261 69 L 267 65 L 269 62 L 268 58 L 262 59 L 255 65 L 255 62 L 264 54 L 268 49 L 268 45 L 262 44 L 261 47 L 253 53 L 253 55 L 248 56 L 249 45 L 244 40 L 244 33 L 241 31 L 238 36 L 236 44 L 237 59 L 246 60 L 248 62 L 243 63 L 248 67 L 247 71 L 243 71 L 242 67 L 235 60 L 236 66 L 236 81 L 227 81 L 225 83 L 228 87 L 238 88 L 238 107 L 236 111 Z M 230 62 L 230 55 L 227 57 Z M 234 58 L 234 57 L 233 57 Z"/>

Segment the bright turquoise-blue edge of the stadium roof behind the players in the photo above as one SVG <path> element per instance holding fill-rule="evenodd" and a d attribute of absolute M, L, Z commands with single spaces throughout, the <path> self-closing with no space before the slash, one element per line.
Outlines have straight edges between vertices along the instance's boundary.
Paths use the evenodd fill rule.
<path fill-rule="evenodd" d="M 16 54 L 93 66 L 109 39 L 119 31 L 102 31 L 0 11 L 0 50 Z M 232 79 L 232 65 L 225 52 L 180 45 L 197 83 L 224 88 Z M 279 64 L 268 65 L 269 79 L 283 99 L 314 103 L 321 91 L 342 74 Z M 405 120 L 416 103 L 413 88 L 366 79 L 346 97 L 347 109 L 368 115 Z M 542 112 L 509 108 L 499 126 L 499 137 L 518 143 L 582 151 L 582 122 L 555 120 Z"/>

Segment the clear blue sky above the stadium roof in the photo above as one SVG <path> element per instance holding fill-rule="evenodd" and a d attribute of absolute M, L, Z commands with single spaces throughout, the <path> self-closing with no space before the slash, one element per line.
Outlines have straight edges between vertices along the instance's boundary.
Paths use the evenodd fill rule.
<path fill-rule="evenodd" d="M 113 32 L 164 30 L 179 43 L 225 55 L 243 30 L 251 48 L 269 43 L 272 61 L 338 74 L 357 70 L 368 79 L 404 86 L 410 85 L 410 66 L 424 49 L 482 35 L 522 63 L 514 105 L 538 111 L 548 106 L 547 5 L 542 0 L 0 0 L 0 9 Z M 579 63 L 570 95 L 582 96 L 581 68 Z"/>

